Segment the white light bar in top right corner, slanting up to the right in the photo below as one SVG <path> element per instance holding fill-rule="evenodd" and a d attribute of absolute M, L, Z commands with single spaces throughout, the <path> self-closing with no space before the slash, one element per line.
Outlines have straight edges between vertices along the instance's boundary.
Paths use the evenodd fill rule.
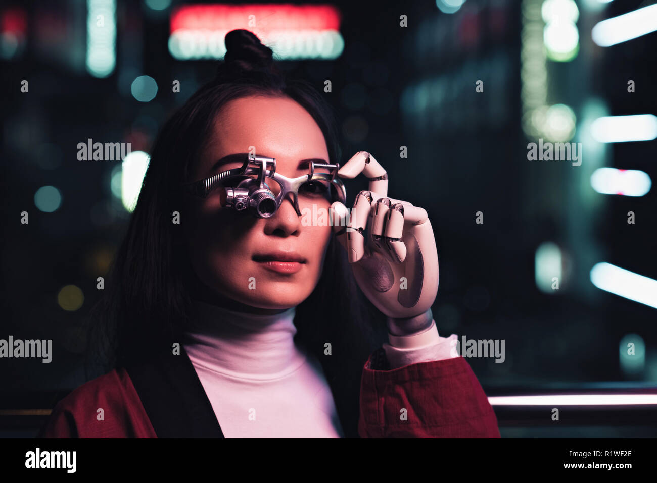
<path fill-rule="evenodd" d="M 591 30 L 591 37 L 600 47 L 609 47 L 655 30 L 657 30 L 657 3 L 598 22 Z"/>

